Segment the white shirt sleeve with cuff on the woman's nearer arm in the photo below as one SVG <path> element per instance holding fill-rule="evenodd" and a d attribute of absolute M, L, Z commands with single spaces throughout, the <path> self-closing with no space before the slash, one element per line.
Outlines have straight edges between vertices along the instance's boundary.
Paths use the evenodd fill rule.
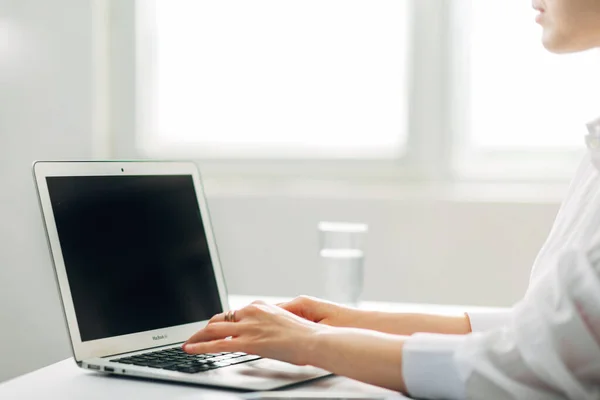
<path fill-rule="evenodd" d="M 417 398 L 600 398 L 600 246 L 565 252 L 501 327 L 410 337 L 403 375 Z"/>

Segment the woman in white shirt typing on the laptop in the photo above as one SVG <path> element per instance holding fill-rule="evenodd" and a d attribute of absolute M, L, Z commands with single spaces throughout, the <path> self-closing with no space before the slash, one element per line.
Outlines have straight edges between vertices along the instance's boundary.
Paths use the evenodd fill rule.
<path fill-rule="evenodd" d="M 600 0 L 534 8 L 550 51 L 600 47 Z M 588 128 L 588 154 L 511 310 L 447 317 L 257 302 L 213 317 L 185 351 L 310 364 L 419 398 L 600 399 L 600 120 Z"/>

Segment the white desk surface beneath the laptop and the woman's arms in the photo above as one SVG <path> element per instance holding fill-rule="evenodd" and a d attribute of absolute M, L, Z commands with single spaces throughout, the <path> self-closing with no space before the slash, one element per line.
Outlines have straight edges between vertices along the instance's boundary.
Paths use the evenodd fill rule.
<path fill-rule="evenodd" d="M 256 298 L 231 296 L 231 307 L 241 308 Z M 265 298 L 267 302 L 279 302 L 285 299 Z M 393 304 L 366 302 L 362 308 L 382 311 L 456 313 L 466 308 L 454 306 L 434 306 L 417 304 Z M 469 307 L 469 310 L 475 307 Z M 10 360 L 8 360 L 10 362 Z M 6 362 L 6 360 L 3 360 Z M 293 390 L 302 391 L 340 391 L 386 393 L 385 389 L 366 385 L 342 377 L 328 377 L 304 384 Z M 186 386 L 167 382 L 138 380 L 109 376 L 83 370 L 75 365 L 73 359 L 58 362 L 38 371 L 23 375 L 0 384 L 0 399 L 60 399 L 60 400 L 104 400 L 104 399 L 144 399 L 144 400 L 210 400 L 222 398 L 227 393 L 221 390 L 197 386 Z"/>

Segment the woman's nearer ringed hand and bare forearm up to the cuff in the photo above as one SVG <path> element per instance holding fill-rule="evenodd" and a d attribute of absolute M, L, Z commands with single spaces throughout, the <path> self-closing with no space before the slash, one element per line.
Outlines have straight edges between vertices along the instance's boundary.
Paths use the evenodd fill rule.
<path fill-rule="evenodd" d="M 225 322 L 225 314 L 215 315 L 183 345 L 183 350 L 192 354 L 242 351 L 406 391 L 402 378 L 404 338 L 327 326 L 328 315 L 335 314 L 329 314 L 328 306 L 323 307 L 325 311 L 320 307 L 290 306 L 299 313 L 305 310 L 307 314 L 302 315 L 321 322 L 315 323 L 282 307 L 257 301 L 237 310 L 235 322 Z"/>

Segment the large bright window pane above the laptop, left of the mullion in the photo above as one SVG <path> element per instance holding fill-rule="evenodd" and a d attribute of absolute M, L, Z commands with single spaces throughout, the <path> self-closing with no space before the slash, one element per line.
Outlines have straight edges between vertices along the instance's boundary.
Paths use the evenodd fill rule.
<path fill-rule="evenodd" d="M 147 153 L 398 158 L 408 1 L 156 0 Z"/>

